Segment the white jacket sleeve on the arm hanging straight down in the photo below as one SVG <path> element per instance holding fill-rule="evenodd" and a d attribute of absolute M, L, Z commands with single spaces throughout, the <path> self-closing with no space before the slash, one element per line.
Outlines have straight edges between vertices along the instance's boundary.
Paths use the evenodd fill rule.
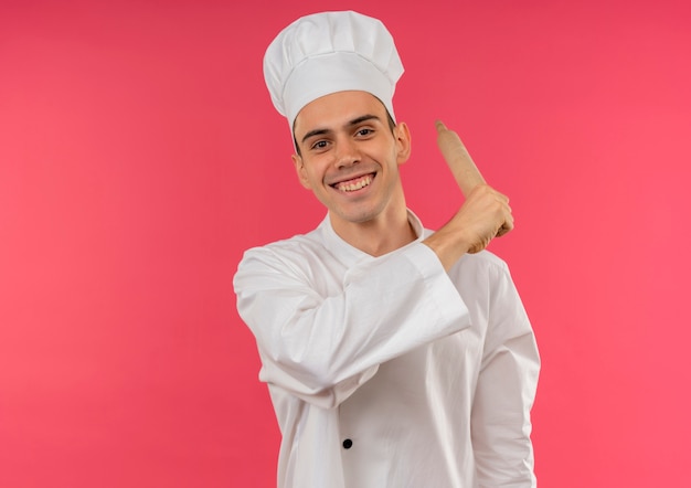
<path fill-rule="evenodd" d="M 530 411 L 540 357 L 508 267 L 488 273 L 488 327 L 471 416 L 479 486 L 534 487 Z"/>

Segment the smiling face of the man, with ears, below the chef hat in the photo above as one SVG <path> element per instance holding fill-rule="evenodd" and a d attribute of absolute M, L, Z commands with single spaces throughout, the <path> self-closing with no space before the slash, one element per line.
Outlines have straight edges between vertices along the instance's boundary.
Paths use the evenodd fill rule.
<path fill-rule="evenodd" d="M 373 95 L 338 92 L 317 98 L 298 114 L 294 135 L 298 178 L 336 225 L 382 219 L 392 205 L 405 206 L 398 165 L 410 156 L 410 134 L 405 124 L 392 134 L 386 108 Z"/>

